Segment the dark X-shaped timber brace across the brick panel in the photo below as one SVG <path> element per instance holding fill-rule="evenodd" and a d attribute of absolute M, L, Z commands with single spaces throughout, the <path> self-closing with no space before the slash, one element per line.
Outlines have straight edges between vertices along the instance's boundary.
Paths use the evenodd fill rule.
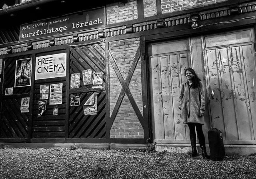
<path fill-rule="evenodd" d="M 108 49 L 108 51 L 110 53 L 109 61 L 110 61 L 111 65 L 112 65 L 114 71 L 116 72 L 116 75 L 117 75 L 117 77 L 118 77 L 118 79 L 119 79 L 119 81 L 120 81 L 120 83 L 122 85 L 122 90 L 121 90 L 121 92 L 120 92 L 120 94 L 118 96 L 118 100 L 116 102 L 116 105 L 115 105 L 115 107 L 113 109 L 113 112 L 112 112 L 112 115 L 110 117 L 110 124 L 113 124 L 113 122 L 114 122 L 114 120 L 116 118 L 118 109 L 120 108 L 120 106 L 122 104 L 122 100 L 124 98 L 124 95 L 127 94 L 128 99 L 130 100 L 130 103 L 132 104 L 132 107 L 133 107 L 133 109 L 134 109 L 134 111 L 135 111 L 135 113 L 136 113 L 136 115 L 137 115 L 137 117 L 138 117 L 138 119 L 140 121 L 140 124 L 145 129 L 146 121 L 143 120 L 143 116 L 142 116 L 142 114 L 140 112 L 140 109 L 138 108 L 138 106 L 137 106 L 137 104 L 136 104 L 136 102 L 135 102 L 135 100 L 134 100 L 134 98 L 132 96 L 132 93 L 130 92 L 130 89 L 128 87 L 129 84 L 130 84 L 130 81 L 132 79 L 132 75 L 134 73 L 136 65 L 137 65 L 137 63 L 138 63 L 138 61 L 140 59 L 140 45 L 138 47 L 138 50 L 137 50 L 136 55 L 134 57 L 134 60 L 132 62 L 130 71 L 129 71 L 125 81 L 124 81 L 124 78 L 123 78 L 122 74 L 120 73 L 120 70 L 119 70 L 118 66 L 116 65 L 116 62 L 114 61 L 114 57 L 113 57 L 110 49 Z"/>

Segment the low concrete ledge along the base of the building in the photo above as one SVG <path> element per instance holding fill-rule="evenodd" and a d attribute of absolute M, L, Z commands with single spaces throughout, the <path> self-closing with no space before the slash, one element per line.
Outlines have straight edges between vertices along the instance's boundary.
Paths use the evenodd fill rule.
<path fill-rule="evenodd" d="M 153 146 L 153 144 L 151 145 Z M 256 145 L 227 145 L 225 144 L 226 155 L 251 155 L 256 153 Z M 116 144 L 116 143 L 0 143 L 0 149 L 3 148 L 83 148 L 83 149 L 146 149 L 146 144 Z M 169 151 L 177 153 L 189 153 L 190 144 L 156 144 L 156 151 Z M 200 146 L 197 145 L 198 153 L 201 153 Z M 206 150 L 210 153 L 209 145 L 206 144 Z"/>

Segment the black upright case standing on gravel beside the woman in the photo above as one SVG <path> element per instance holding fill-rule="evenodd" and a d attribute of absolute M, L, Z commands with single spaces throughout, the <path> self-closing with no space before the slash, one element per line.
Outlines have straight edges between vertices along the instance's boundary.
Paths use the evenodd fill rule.
<path fill-rule="evenodd" d="M 217 128 L 208 131 L 208 140 L 210 147 L 210 159 L 214 161 L 223 160 L 225 157 L 225 148 L 223 144 L 222 132 Z"/>

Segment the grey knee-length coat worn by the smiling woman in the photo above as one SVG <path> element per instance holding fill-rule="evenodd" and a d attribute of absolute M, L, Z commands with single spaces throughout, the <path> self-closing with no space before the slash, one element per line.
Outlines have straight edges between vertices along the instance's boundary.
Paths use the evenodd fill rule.
<path fill-rule="evenodd" d="M 183 83 L 180 90 L 181 117 L 184 124 L 197 122 L 204 125 L 204 116 L 200 117 L 200 109 L 204 110 L 205 96 L 203 83 L 197 88 L 189 87 L 188 81 Z"/>

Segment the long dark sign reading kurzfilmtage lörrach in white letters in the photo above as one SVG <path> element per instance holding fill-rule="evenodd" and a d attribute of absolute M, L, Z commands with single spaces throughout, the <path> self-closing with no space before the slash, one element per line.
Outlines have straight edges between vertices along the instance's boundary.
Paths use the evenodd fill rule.
<path fill-rule="evenodd" d="M 105 27 L 105 8 L 96 8 L 20 26 L 19 42 Z"/>

